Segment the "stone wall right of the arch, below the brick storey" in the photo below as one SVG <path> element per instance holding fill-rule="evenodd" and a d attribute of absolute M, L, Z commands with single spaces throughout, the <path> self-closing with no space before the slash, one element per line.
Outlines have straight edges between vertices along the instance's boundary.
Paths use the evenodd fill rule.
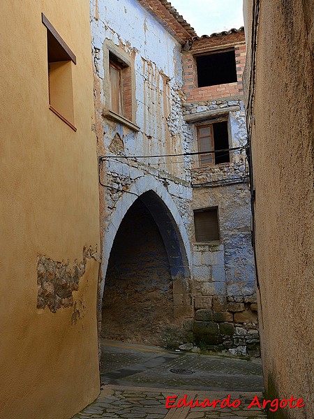
<path fill-rule="evenodd" d="M 218 207 L 220 224 L 219 244 L 193 242 L 195 337 L 232 354 L 258 356 L 244 103 L 241 98 L 185 103 L 184 113 L 194 132 L 200 122 L 227 118 L 230 148 L 240 147 L 231 152 L 230 163 L 199 167 L 197 157 L 193 161 L 193 209 Z M 197 151 L 196 141 L 192 148 Z"/>

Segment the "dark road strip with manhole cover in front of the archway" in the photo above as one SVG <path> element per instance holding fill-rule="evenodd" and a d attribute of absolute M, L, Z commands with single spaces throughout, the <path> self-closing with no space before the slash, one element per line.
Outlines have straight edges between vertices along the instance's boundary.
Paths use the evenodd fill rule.
<path fill-rule="evenodd" d="M 239 360 L 102 341 L 103 384 L 203 391 L 262 391 L 260 360 Z M 173 374 L 188 369 L 193 374 Z"/>

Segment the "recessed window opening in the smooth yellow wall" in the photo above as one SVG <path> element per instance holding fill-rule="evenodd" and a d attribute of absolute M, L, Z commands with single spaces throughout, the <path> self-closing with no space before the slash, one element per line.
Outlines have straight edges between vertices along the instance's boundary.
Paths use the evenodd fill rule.
<path fill-rule="evenodd" d="M 47 28 L 49 108 L 76 131 L 72 84 L 72 63 L 76 64 L 76 57 L 43 13 L 42 22 Z"/>

